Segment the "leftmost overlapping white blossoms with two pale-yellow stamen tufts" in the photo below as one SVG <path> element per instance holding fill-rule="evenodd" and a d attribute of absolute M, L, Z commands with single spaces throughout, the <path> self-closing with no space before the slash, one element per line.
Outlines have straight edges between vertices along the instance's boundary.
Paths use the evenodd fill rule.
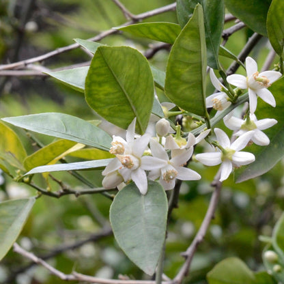
<path fill-rule="evenodd" d="M 155 169 L 155 158 L 143 156 L 144 151 L 150 141 L 150 134 L 135 139 L 135 122 L 128 127 L 126 132 L 126 141 L 121 137 L 113 137 L 110 152 L 115 154 L 116 158 L 109 162 L 102 175 L 106 175 L 102 184 L 106 188 L 112 188 L 129 180 L 139 188 L 141 194 L 147 193 L 147 175 L 145 170 Z M 123 177 L 123 179 L 120 177 Z"/>

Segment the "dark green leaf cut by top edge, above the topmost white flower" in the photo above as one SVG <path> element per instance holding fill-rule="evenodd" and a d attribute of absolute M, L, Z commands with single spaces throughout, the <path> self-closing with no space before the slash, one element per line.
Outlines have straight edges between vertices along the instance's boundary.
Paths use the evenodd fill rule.
<path fill-rule="evenodd" d="M 267 36 L 266 17 L 272 0 L 225 0 L 226 8 L 250 29 Z"/>

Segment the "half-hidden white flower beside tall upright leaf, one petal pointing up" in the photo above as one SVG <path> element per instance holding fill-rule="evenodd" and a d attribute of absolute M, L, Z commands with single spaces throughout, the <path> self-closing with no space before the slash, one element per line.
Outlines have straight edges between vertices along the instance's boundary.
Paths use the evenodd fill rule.
<path fill-rule="evenodd" d="M 212 94 L 206 98 L 206 107 L 212 107 L 213 109 L 216 109 L 218 113 L 227 109 L 231 105 L 231 102 L 229 101 L 229 97 L 225 91 L 222 91 L 224 89 L 227 90 L 226 87 L 218 81 L 212 69 L 210 69 L 210 79 L 214 87 L 220 92 Z"/>

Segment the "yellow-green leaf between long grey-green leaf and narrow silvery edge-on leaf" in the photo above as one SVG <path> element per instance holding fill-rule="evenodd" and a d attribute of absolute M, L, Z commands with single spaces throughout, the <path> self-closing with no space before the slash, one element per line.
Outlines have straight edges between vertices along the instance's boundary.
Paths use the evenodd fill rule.
<path fill-rule="evenodd" d="M 48 144 L 45 147 L 42 147 L 37 152 L 25 158 L 25 169 L 29 171 L 34 167 L 46 165 L 48 164 L 48 162 L 51 162 L 58 156 L 61 156 L 61 154 L 69 150 L 74 145 L 76 145 L 76 142 L 63 139 Z"/>

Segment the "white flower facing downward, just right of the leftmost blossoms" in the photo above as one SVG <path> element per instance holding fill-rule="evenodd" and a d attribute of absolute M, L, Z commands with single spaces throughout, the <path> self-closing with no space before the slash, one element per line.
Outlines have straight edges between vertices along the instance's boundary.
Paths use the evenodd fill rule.
<path fill-rule="evenodd" d="M 196 171 L 182 167 L 193 155 L 193 147 L 189 150 L 180 151 L 176 156 L 169 156 L 162 145 L 155 139 L 150 141 L 150 149 L 154 157 L 157 169 L 152 169 L 148 175 L 150 180 L 156 180 L 160 177 L 160 184 L 165 190 L 173 189 L 175 179 L 179 180 L 200 180 L 201 176 Z"/>

